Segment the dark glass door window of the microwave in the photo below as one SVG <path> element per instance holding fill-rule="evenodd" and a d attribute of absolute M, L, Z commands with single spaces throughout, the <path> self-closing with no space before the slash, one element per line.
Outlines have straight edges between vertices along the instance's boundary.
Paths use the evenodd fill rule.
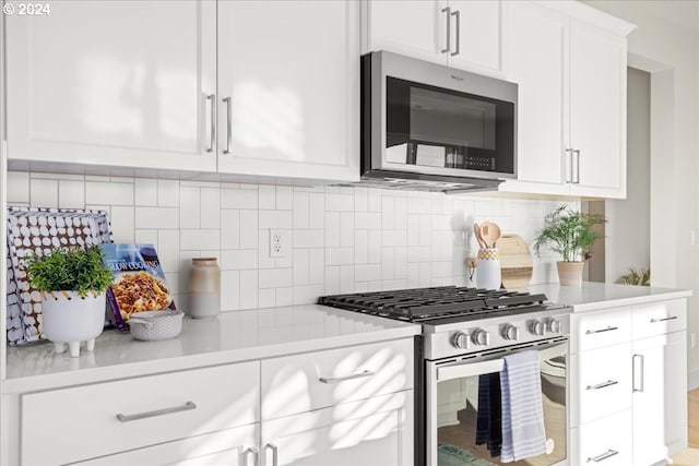
<path fill-rule="evenodd" d="M 387 77 L 387 162 L 514 172 L 514 104 Z"/>

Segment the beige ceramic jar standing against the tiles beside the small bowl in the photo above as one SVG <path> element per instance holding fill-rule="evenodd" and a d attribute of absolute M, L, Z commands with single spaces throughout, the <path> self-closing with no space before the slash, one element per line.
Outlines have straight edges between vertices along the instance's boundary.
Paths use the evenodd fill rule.
<path fill-rule="evenodd" d="M 221 313 L 221 270 L 216 258 L 194 258 L 189 271 L 189 310 L 194 319 Z"/>

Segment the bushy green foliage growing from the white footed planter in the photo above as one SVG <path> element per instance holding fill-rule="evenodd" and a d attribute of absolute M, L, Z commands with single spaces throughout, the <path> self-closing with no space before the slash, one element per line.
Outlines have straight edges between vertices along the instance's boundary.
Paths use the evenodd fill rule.
<path fill-rule="evenodd" d="M 29 283 L 39 291 L 73 290 L 85 297 L 88 291 L 103 292 L 114 275 L 102 262 L 97 246 L 86 249 L 56 248 L 49 254 L 35 254 L 25 265 Z"/>

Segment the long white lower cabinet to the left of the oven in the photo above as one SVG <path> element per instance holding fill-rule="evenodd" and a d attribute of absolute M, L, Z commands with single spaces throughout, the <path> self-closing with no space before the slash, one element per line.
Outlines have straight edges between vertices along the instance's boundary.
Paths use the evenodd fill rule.
<path fill-rule="evenodd" d="M 9 457 L 22 466 L 413 466 L 413 387 L 411 337 L 28 392 L 11 406 L 20 435 Z"/>

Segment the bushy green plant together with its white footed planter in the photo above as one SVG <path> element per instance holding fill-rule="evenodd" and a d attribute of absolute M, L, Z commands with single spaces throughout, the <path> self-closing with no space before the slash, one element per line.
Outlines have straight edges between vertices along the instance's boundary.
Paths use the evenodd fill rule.
<path fill-rule="evenodd" d="M 28 258 L 29 284 L 42 294 L 44 334 L 56 353 L 80 356 L 80 343 L 92 351 L 105 324 L 105 291 L 112 274 L 102 262 L 97 246 L 86 249 L 56 248 Z"/>

